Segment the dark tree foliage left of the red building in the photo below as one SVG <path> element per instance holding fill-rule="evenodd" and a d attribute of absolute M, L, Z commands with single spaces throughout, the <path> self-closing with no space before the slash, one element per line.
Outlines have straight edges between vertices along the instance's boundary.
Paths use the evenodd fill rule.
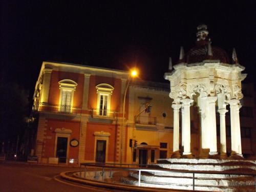
<path fill-rule="evenodd" d="M 26 129 L 28 92 L 16 83 L 2 83 L 0 92 L 0 141 L 16 143 Z"/>

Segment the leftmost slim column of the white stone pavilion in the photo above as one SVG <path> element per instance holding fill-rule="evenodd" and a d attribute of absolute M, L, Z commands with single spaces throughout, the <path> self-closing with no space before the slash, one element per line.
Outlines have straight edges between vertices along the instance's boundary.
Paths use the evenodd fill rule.
<path fill-rule="evenodd" d="M 174 109 L 174 138 L 173 138 L 173 155 L 172 158 L 179 158 L 180 157 L 180 118 L 179 112 L 181 108 L 181 104 L 172 104 L 172 108 Z"/>

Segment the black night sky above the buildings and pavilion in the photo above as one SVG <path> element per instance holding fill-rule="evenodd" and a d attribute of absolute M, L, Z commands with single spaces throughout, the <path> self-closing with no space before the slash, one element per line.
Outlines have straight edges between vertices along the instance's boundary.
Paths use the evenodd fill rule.
<path fill-rule="evenodd" d="M 255 1 L 47 2 L 1 3 L 1 79 L 31 93 L 45 60 L 137 65 L 143 79 L 164 82 L 168 57 L 175 63 L 180 46 L 192 48 L 202 23 L 213 46 L 230 56 L 235 47 L 248 79 L 256 74 Z"/>

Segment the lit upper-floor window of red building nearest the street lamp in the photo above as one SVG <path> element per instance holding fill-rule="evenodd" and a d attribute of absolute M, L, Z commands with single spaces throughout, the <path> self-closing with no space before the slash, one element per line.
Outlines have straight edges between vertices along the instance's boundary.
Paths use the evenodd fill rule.
<path fill-rule="evenodd" d="M 97 115 L 110 116 L 110 101 L 114 87 L 110 84 L 101 83 L 96 86 L 98 101 L 97 101 Z"/>

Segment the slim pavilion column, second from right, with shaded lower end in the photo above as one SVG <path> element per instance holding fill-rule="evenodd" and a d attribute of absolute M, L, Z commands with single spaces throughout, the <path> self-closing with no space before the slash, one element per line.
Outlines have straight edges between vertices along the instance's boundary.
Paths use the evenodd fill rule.
<path fill-rule="evenodd" d="M 227 156 L 227 145 L 226 145 L 226 121 L 225 115 L 228 112 L 226 109 L 218 110 L 220 114 L 220 140 L 221 140 L 221 156 Z"/>

